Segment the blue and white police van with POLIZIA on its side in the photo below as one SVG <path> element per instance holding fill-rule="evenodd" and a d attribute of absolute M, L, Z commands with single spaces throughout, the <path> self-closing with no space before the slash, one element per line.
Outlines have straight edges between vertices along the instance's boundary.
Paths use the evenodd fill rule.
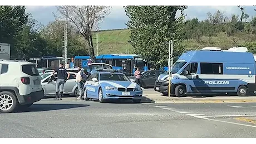
<path fill-rule="evenodd" d="M 247 49 L 204 48 L 183 53 L 171 71 L 171 94 L 237 93 L 246 96 L 256 91 L 256 64 Z M 168 78 L 168 77 L 167 77 Z M 168 94 L 168 79 L 156 80 L 155 90 Z"/>

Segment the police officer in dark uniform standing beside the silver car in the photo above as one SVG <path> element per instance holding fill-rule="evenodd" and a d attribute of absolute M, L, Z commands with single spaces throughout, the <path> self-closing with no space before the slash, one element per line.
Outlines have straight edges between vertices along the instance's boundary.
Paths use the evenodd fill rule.
<path fill-rule="evenodd" d="M 66 83 L 67 79 L 70 78 L 70 73 L 67 73 L 67 70 L 64 68 L 64 65 L 62 63 L 60 64 L 60 68 L 55 69 L 55 72 L 57 73 L 55 100 L 58 100 L 58 99 L 62 100 L 61 97 L 63 95 L 64 84 Z M 53 76 L 55 76 L 54 75 L 55 72 L 53 72 Z M 60 96 L 58 95 L 59 89 L 60 89 Z"/>

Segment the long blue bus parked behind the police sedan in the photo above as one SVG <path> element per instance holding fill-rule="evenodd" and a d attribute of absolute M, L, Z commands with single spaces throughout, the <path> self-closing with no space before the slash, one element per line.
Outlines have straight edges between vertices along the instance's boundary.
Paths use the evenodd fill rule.
<path fill-rule="evenodd" d="M 106 63 L 113 66 L 113 69 L 122 70 L 127 76 L 134 74 L 135 68 L 149 70 L 146 60 L 136 54 L 105 54 L 95 56 L 97 63 Z M 81 65 L 86 68 L 91 63 L 90 56 L 75 56 L 75 67 Z"/>

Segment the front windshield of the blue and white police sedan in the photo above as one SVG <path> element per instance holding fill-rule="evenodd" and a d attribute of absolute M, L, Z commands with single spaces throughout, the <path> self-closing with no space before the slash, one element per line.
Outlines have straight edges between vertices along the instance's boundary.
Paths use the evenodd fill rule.
<path fill-rule="evenodd" d="M 124 74 L 100 74 L 100 80 L 130 81 Z"/>

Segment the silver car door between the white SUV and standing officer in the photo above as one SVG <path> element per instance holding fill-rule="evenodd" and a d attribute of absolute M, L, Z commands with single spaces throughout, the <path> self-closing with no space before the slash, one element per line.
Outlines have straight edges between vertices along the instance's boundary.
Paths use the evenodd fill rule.
<path fill-rule="evenodd" d="M 47 76 L 43 82 L 42 87 L 45 90 L 45 95 L 53 95 L 56 94 L 55 88 L 56 88 L 56 80 L 53 78 L 53 75 Z"/>

